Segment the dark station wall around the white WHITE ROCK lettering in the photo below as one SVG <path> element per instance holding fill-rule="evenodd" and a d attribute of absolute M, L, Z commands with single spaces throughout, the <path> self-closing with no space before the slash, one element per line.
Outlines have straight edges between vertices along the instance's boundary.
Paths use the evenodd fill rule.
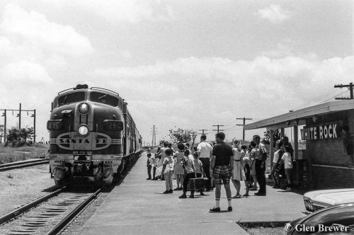
<path fill-rule="evenodd" d="M 341 128 L 348 125 L 354 139 L 354 110 L 318 115 L 316 122 L 309 118 L 306 123 L 307 127 L 337 123 L 337 138 L 306 141 L 306 156 L 312 164 L 314 188 L 354 188 L 354 168 L 348 168 L 350 156 L 346 154 L 341 137 Z"/>

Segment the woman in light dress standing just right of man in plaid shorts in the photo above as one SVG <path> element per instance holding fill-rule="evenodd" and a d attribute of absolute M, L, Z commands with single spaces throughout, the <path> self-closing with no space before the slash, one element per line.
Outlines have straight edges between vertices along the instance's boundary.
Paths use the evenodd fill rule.
<path fill-rule="evenodd" d="M 246 179 L 244 174 L 244 151 L 241 150 L 241 141 L 239 139 L 234 139 L 234 148 L 232 149 L 234 153 L 234 168 L 232 168 L 232 183 L 236 188 L 236 195 L 234 198 L 242 197 L 240 193 L 241 182 Z"/>

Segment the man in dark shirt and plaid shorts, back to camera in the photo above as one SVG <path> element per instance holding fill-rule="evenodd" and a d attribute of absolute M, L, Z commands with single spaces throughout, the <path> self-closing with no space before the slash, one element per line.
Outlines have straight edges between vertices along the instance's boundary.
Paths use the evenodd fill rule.
<path fill-rule="evenodd" d="M 210 212 L 220 212 L 220 197 L 221 197 L 221 186 L 224 183 L 224 188 L 226 190 L 227 202 L 229 207 L 227 210 L 232 212 L 231 204 L 231 189 L 230 189 L 230 178 L 232 176 L 232 147 L 224 142 L 225 134 L 219 132 L 215 134 L 215 141 L 217 144 L 212 148 L 212 159 L 210 160 L 210 171 L 212 177 L 215 181 L 215 202 L 216 206 L 210 209 Z"/>

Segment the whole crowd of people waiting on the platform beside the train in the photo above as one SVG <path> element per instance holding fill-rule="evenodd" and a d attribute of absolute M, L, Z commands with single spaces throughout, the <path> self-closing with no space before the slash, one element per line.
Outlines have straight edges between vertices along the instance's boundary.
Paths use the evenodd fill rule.
<path fill-rule="evenodd" d="M 205 190 L 210 191 L 215 186 L 215 207 L 210 212 L 220 212 L 219 201 L 221 188 L 227 194 L 228 211 L 232 211 L 232 198 L 248 197 L 250 190 L 258 190 L 256 196 L 266 195 L 265 160 L 268 157 L 261 137 L 253 136 L 249 146 L 241 145 L 240 139 L 233 139 L 233 145 L 224 142 L 225 134 L 215 134 L 215 144 L 206 141 L 202 134 L 200 144 L 190 148 L 190 144 L 178 143 L 177 149 L 172 144 L 164 142 L 163 147 L 157 149 L 152 156 L 151 149 L 147 154 L 147 180 L 165 180 L 164 194 L 173 193 L 173 190 L 183 190 L 179 198 L 187 198 L 188 183 L 191 178 L 207 178 Z M 280 188 L 280 173 L 287 176 L 286 191 L 292 187 L 292 153 L 293 149 L 287 137 L 276 142 L 276 151 L 273 158 L 271 176 L 274 181 L 273 188 Z M 151 173 L 153 171 L 153 173 Z M 173 189 L 172 180 L 176 179 L 176 188 Z M 230 188 L 232 181 L 236 195 L 232 197 Z M 246 192 L 241 194 L 241 181 L 244 181 Z M 259 186 L 259 188 L 257 187 Z M 204 195 L 204 189 L 198 190 Z M 195 191 L 190 190 L 190 198 Z"/>

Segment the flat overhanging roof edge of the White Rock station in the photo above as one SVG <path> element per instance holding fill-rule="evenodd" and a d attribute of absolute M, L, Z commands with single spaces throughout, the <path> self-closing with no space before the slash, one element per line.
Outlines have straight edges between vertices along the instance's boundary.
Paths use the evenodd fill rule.
<path fill-rule="evenodd" d="M 354 109 L 354 100 L 321 103 L 319 105 L 295 110 L 290 113 L 285 113 L 275 117 L 267 118 L 265 120 L 244 125 L 244 130 L 253 130 L 259 128 L 267 128 L 267 130 L 276 130 L 280 129 L 281 127 L 305 125 L 305 120 L 308 117 L 314 117 L 315 115 L 324 115 L 350 109 Z"/>

